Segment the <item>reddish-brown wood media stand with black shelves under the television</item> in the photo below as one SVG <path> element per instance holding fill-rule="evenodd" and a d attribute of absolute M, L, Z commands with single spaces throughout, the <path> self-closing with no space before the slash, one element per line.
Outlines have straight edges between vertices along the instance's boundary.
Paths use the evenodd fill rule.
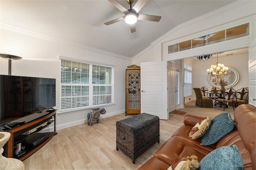
<path fill-rule="evenodd" d="M 47 112 L 42 111 L 42 113 Z M 49 128 L 46 129 L 46 127 Z M 7 131 L 11 136 L 4 146 L 3 155 L 7 158 L 25 160 L 56 134 L 56 111 Z M 17 154 L 16 150 L 21 151 Z"/>

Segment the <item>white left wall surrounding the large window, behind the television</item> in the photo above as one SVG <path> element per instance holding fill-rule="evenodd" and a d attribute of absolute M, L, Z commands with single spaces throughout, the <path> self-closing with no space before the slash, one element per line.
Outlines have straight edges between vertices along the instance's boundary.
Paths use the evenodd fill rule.
<path fill-rule="evenodd" d="M 132 60 L 82 45 L 26 32 L 24 30 L 1 26 L 1 51 L 22 57 L 12 61 L 12 75 L 47 77 L 56 79 L 57 129 L 71 127 L 87 122 L 88 110 L 60 113 L 60 59 L 59 56 L 114 65 L 115 105 L 104 107 L 107 111 L 102 118 L 125 112 L 125 70 Z M 8 75 L 8 60 L 0 58 L 0 74 Z"/>

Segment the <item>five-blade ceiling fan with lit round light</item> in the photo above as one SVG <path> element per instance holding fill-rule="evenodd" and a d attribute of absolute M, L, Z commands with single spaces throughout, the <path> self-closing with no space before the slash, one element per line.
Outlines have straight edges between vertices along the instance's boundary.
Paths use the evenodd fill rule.
<path fill-rule="evenodd" d="M 161 16 L 154 16 L 154 15 L 147 15 L 147 14 L 138 14 L 140 9 L 146 4 L 148 0 L 138 0 L 136 4 L 132 8 L 132 4 L 134 0 L 127 0 L 127 3 L 130 5 L 130 9 L 127 10 L 122 6 L 117 0 L 108 0 L 111 4 L 113 4 L 118 10 L 123 12 L 125 16 L 122 16 L 120 18 L 117 18 L 115 20 L 106 22 L 104 24 L 110 25 L 114 24 L 118 21 L 125 20 L 127 24 L 130 24 L 131 32 L 136 32 L 135 23 L 137 20 L 147 20 L 147 21 L 154 21 L 159 22 L 161 19 Z"/>

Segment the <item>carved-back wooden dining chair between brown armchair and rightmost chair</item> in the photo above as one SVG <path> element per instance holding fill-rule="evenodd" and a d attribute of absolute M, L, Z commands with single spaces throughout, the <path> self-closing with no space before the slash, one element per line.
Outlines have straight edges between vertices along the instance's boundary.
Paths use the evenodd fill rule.
<path fill-rule="evenodd" d="M 216 102 L 220 103 L 220 107 L 223 105 L 224 106 L 224 111 L 225 111 L 225 107 L 228 107 L 228 104 L 231 103 L 233 110 L 234 109 L 234 96 L 236 94 L 236 91 L 233 88 L 230 89 L 226 89 L 226 91 L 224 91 L 223 93 L 220 93 L 220 97 L 218 99 L 216 99 Z M 216 105 L 215 105 L 216 108 Z"/>

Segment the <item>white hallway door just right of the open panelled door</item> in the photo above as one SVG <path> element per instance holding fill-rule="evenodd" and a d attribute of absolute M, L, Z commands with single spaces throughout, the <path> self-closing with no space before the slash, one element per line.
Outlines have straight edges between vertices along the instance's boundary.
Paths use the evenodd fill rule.
<path fill-rule="evenodd" d="M 168 69 L 168 113 L 177 109 L 177 72 L 175 67 Z"/>

